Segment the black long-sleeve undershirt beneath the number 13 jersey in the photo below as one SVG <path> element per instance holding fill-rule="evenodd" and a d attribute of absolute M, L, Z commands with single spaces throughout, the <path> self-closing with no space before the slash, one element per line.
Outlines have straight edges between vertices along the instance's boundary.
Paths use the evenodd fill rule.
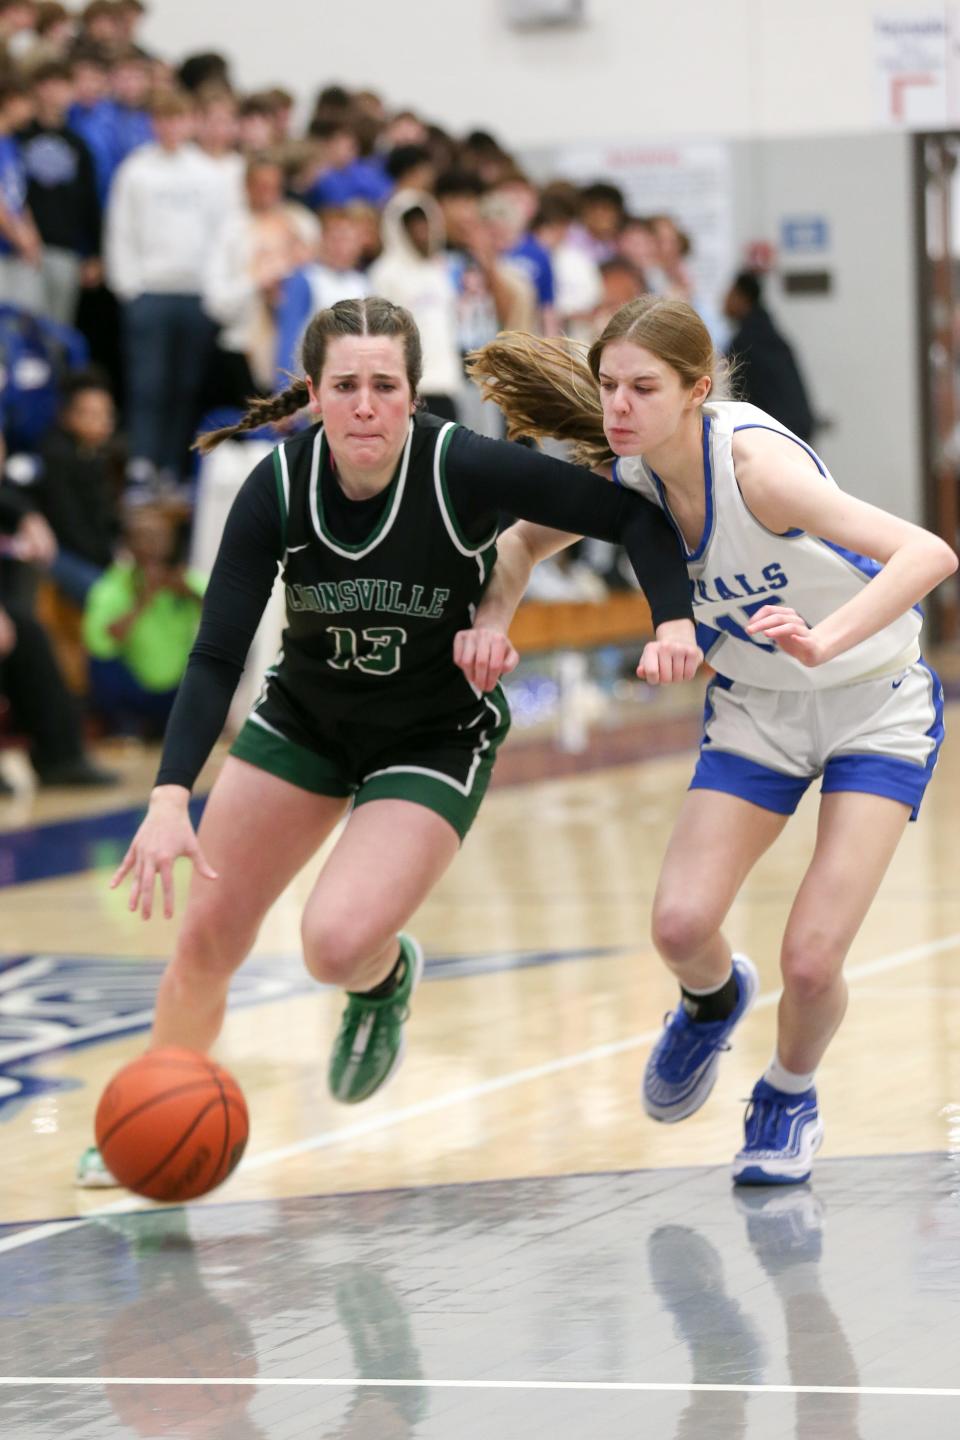
<path fill-rule="evenodd" d="M 458 428 L 446 454 L 446 485 L 463 534 L 479 543 L 504 513 L 571 534 L 625 546 L 653 624 L 691 619 L 687 566 L 656 505 L 566 461 Z M 351 501 L 325 468 L 324 513 L 345 543 L 366 539 L 386 491 Z M 187 789 L 220 734 L 246 652 L 284 556 L 272 456 L 243 482 L 223 530 L 203 602 L 200 631 L 170 716 L 158 785 Z M 452 664 L 452 657 L 450 657 Z"/>

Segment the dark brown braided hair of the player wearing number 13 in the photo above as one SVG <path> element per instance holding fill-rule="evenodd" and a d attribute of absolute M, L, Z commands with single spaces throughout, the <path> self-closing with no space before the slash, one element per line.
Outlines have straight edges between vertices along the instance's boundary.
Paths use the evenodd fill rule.
<path fill-rule="evenodd" d="M 410 393 L 416 397 L 423 373 L 423 353 L 420 333 L 409 310 L 394 305 L 393 301 L 383 300 L 380 295 L 371 295 L 366 300 L 338 300 L 328 310 L 318 310 L 304 333 L 301 346 L 304 372 L 314 384 L 320 383 L 327 346 L 338 336 L 399 336 L 403 340 Z M 308 400 L 307 380 L 291 376 L 291 384 L 285 390 L 248 400 L 246 415 L 242 420 L 237 420 L 236 425 L 225 425 L 219 431 L 206 431 L 194 442 L 194 449 L 207 455 L 222 441 L 296 415 Z"/>

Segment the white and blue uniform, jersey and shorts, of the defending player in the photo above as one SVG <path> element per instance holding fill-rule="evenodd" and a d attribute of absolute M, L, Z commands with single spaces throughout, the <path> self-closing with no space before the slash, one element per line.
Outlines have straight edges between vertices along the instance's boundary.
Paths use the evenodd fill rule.
<path fill-rule="evenodd" d="M 769 429 L 820 458 L 753 405 L 704 406 L 704 530 L 687 554 L 697 638 L 717 678 L 707 691 L 692 789 L 724 791 L 790 815 L 809 783 L 910 805 L 915 819 L 943 740 L 943 688 L 920 658 L 920 608 L 823 665 L 806 667 L 763 635 L 747 634 L 764 605 L 789 605 L 813 626 L 852 599 L 881 566 L 805 530 L 776 534 L 747 507 L 733 438 Z M 656 501 L 664 485 L 642 456 L 623 456 L 615 480 Z"/>

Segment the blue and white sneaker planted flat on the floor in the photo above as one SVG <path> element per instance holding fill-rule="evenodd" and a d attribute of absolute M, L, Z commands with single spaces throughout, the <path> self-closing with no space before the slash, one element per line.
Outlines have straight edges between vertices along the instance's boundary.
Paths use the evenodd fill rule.
<path fill-rule="evenodd" d="M 744 1130 L 744 1148 L 734 1158 L 734 1185 L 802 1185 L 823 1143 L 816 1089 L 784 1094 L 757 1080 Z"/>

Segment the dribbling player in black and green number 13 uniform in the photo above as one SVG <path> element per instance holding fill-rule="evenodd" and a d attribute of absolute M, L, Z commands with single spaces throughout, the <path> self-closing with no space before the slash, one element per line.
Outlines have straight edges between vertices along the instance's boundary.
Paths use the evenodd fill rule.
<path fill-rule="evenodd" d="M 230 976 L 269 906 L 340 824 L 302 916 L 304 959 L 347 1007 L 330 1089 L 366 1100 L 393 1074 L 423 956 L 400 933 L 453 860 L 510 724 L 453 662 L 497 554 L 498 516 L 622 541 L 656 638 L 648 680 L 699 661 L 679 544 L 659 510 L 599 475 L 417 410 L 420 340 L 407 311 L 371 298 L 320 311 L 307 377 L 237 431 L 309 403 L 311 429 L 255 467 L 227 518 L 203 619 L 167 730 L 157 785 L 114 886 L 132 876 L 144 919 L 173 863 L 194 865 L 151 1043 L 207 1050 Z M 187 802 L 223 723 L 278 566 L 286 629 L 278 662 L 207 801 Z M 78 1175 L 109 1184 L 95 1151 Z"/>

